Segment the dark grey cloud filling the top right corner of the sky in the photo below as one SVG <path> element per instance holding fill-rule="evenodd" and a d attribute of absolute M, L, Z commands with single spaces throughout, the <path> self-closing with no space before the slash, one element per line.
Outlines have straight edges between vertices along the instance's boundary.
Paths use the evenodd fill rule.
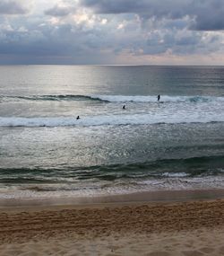
<path fill-rule="evenodd" d="M 96 13 L 137 13 L 142 19 L 180 19 L 190 16 L 192 30 L 224 30 L 223 0 L 81 0 Z"/>

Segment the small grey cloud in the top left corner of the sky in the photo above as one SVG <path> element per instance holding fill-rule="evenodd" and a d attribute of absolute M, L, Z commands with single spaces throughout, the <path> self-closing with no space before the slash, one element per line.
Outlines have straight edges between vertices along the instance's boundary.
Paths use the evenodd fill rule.
<path fill-rule="evenodd" d="M 1 0 L 0 14 L 25 14 L 28 10 L 16 1 Z"/>

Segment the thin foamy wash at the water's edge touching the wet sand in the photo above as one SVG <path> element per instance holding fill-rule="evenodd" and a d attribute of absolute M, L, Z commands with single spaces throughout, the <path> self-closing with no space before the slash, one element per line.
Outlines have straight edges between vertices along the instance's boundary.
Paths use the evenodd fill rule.
<path fill-rule="evenodd" d="M 195 177 L 195 178 L 164 178 L 164 179 L 150 179 L 144 181 L 133 181 L 119 183 L 108 183 L 108 186 L 102 186 L 101 183 L 95 184 L 95 188 L 82 187 L 70 188 L 64 190 L 65 185 L 58 187 L 58 190 L 33 190 L 33 187 L 43 189 L 43 185 L 32 184 L 27 188 L 21 185 L 12 188 L 0 188 L 0 199 L 56 199 L 56 198 L 79 198 L 79 197 L 98 197 L 108 195 L 123 195 L 141 191 L 158 191 L 158 190 L 208 190 L 208 189 L 224 189 L 224 177 L 208 176 L 208 177 Z M 45 184 L 45 189 L 50 189 L 52 185 Z M 56 185 L 55 185 L 56 186 Z"/>

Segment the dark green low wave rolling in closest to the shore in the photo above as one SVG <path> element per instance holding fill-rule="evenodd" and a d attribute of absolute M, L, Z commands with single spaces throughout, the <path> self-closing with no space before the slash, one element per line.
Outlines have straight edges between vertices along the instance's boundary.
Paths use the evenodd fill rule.
<path fill-rule="evenodd" d="M 143 163 L 117 163 L 58 168 L 0 168 L 0 183 L 63 183 L 95 179 L 167 179 L 224 175 L 224 155 L 186 159 L 158 159 Z M 209 167 L 208 167 L 209 166 Z M 143 179 L 143 180 L 142 180 Z"/>

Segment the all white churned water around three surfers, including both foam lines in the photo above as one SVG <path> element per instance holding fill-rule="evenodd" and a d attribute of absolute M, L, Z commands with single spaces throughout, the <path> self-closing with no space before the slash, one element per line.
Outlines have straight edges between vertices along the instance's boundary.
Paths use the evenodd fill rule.
<path fill-rule="evenodd" d="M 74 101 L 101 102 L 97 113 L 82 110 L 82 118 L 63 117 L 0 117 L 0 127 L 66 127 L 108 125 L 153 125 L 176 123 L 210 123 L 224 121 L 224 97 L 211 96 L 156 96 L 125 95 L 35 95 L 7 96 L 2 101 Z M 126 110 L 121 110 L 121 104 Z M 110 104 L 108 104 L 110 103 Z M 86 107 L 88 108 L 88 107 Z M 93 106 L 91 105 L 91 108 Z M 90 115 L 91 114 L 91 115 Z"/>

